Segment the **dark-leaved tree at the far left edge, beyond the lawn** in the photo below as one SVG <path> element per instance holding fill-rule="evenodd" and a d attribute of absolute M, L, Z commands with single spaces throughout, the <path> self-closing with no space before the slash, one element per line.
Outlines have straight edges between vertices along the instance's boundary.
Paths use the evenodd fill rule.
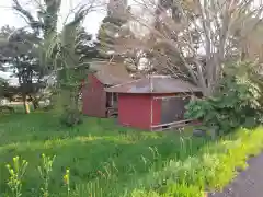
<path fill-rule="evenodd" d="M 2 42 L 0 44 L 0 62 L 13 71 L 18 78 L 20 89 L 18 93 L 22 94 L 25 112 L 26 96 L 33 97 L 41 88 L 41 82 L 44 77 L 42 67 L 39 66 L 38 44 L 39 38 L 34 34 L 24 31 L 23 28 L 15 30 L 5 26 L 0 32 Z M 37 103 L 34 103 L 37 107 Z"/>

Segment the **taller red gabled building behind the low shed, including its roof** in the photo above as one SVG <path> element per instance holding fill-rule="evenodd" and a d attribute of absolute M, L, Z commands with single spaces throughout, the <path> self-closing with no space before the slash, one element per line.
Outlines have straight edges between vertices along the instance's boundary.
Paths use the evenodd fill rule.
<path fill-rule="evenodd" d="M 93 73 L 82 88 L 82 112 L 93 117 L 107 117 L 117 107 L 117 94 L 105 92 L 105 88 L 130 81 L 128 71 L 118 63 L 93 63 Z"/>

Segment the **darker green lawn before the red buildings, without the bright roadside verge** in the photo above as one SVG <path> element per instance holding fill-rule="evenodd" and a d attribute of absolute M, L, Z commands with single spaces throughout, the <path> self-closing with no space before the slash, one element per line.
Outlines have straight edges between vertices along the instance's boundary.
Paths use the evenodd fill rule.
<path fill-rule="evenodd" d="M 84 124 L 76 128 L 61 128 L 50 114 L 15 114 L 4 116 L 0 121 L 0 188 L 5 192 L 8 172 L 5 163 L 20 155 L 28 161 L 26 192 L 39 188 L 37 172 L 41 154 L 56 155 L 52 176 L 52 193 L 59 193 L 62 174 L 67 167 L 71 171 L 72 185 L 88 182 L 101 184 L 112 178 L 111 187 L 129 184 L 136 175 L 147 174 L 155 165 L 162 167 L 163 161 L 174 157 L 186 158 L 197 149 L 182 154 L 179 135 L 162 132 L 141 132 L 116 127 L 110 119 L 85 118 Z M 191 141 L 190 141 L 191 142 Z M 195 140 L 195 148 L 206 141 Z"/>

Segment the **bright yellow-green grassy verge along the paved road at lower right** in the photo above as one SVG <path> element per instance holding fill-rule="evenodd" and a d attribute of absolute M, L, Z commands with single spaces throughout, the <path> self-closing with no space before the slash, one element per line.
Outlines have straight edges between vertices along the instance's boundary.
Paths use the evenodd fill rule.
<path fill-rule="evenodd" d="M 134 196 L 203 197 L 204 192 L 220 190 L 247 167 L 247 160 L 261 153 L 263 128 L 240 129 L 232 136 L 210 142 L 194 157 L 170 160 L 158 172 L 142 177 Z"/>

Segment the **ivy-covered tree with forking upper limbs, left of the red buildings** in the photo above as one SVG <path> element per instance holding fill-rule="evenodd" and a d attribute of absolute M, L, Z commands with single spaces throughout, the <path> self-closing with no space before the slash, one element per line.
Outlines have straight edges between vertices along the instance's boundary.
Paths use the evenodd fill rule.
<path fill-rule="evenodd" d="M 57 32 L 57 19 L 58 12 L 61 5 L 61 0 L 45 0 L 44 3 L 38 4 L 37 15 L 38 19 L 34 19 L 33 14 L 26 11 L 18 0 L 13 0 L 14 9 L 24 15 L 32 28 L 37 34 L 43 34 L 43 43 L 41 45 L 41 63 L 47 66 L 47 69 L 56 73 L 57 92 L 66 94 L 60 99 L 66 99 L 62 104 L 68 107 L 66 115 L 71 119 L 72 125 L 79 123 L 79 112 L 77 108 L 77 95 L 80 83 L 81 69 L 85 67 L 85 62 L 79 65 L 79 59 L 85 59 L 87 54 L 83 55 L 83 49 L 88 47 L 84 43 L 78 44 L 78 35 L 88 36 L 81 34 L 79 26 L 85 15 L 94 11 L 101 5 L 101 2 L 90 0 L 85 4 L 75 9 L 75 19 L 66 23 L 61 33 Z M 85 37 L 88 38 L 88 37 Z M 83 66 L 83 67 L 82 67 Z M 59 103 L 59 102 L 58 102 Z"/>

